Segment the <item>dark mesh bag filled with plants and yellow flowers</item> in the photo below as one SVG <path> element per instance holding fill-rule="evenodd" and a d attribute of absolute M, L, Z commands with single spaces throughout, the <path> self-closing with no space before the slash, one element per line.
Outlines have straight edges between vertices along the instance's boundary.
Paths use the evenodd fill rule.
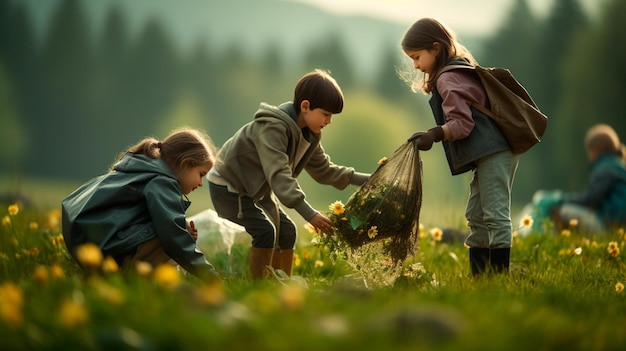
<path fill-rule="evenodd" d="M 368 286 L 391 285 L 417 251 L 421 206 L 422 161 L 417 143 L 407 142 L 379 162 L 345 206 L 331 205 L 335 229 L 325 243 L 338 243 Z"/>

